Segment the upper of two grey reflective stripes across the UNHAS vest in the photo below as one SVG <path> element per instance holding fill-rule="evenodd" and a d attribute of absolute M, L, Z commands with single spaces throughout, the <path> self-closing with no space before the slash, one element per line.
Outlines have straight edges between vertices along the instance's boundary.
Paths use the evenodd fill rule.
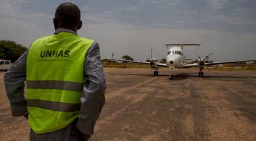
<path fill-rule="evenodd" d="M 27 81 L 28 89 L 60 89 L 69 91 L 83 91 L 83 83 L 70 81 Z"/>

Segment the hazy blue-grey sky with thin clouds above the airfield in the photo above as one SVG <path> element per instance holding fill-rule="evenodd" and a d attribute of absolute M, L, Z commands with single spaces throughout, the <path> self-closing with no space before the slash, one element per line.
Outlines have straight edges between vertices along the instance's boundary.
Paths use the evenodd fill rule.
<path fill-rule="evenodd" d="M 62 2 L 80 7 L 79 36 L 100 44 L 101 58 L 165 58 L 164 44 L 194 43 L 187 58 L 214 52 L 213 61 L 256 59 L 255 0 L 0 0 L 0 39 L 29 47 L 54 33 L 53 17 Z"/>

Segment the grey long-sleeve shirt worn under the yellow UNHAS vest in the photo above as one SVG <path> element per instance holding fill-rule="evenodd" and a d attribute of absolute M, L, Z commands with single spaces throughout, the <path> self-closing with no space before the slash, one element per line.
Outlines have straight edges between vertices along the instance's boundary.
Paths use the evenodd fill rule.
<path fill-rule="evenodd" d="M 58 29 L 54 34 L 74 31 Z M 29 49 L 28 49 L 29 50 Z M 13 116 L 27 115 L 27 101 L 24 97 L 24 81 L 26 79 L 26 62 L 28 50 L 12 65 L 4 76 L 6 83 L 6 94 L 10 100 Z M 101 109 L 105 104 L 105 75 L 100 61 L 100 47 L 93 42 L 85 55 L 84 77 L 87 81 L 83 84 L 83 95 L 81 97 L 80 118 L 77 121 L 78 129 L 84 134 L 93 134 L 93 127 L 99 118 Z M 31 140 L 68 140 L 71 125 L 58 131 L 46 134 L 36 134 L 30 131 Z"/>

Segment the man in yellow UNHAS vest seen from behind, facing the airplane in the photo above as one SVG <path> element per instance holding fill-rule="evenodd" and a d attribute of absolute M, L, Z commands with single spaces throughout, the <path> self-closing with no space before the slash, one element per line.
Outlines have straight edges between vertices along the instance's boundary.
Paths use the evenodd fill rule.
<path fill-rule="evenodd" d="M 55 33 L 33 42 L 4 76 L 12 115 L 28 119 L 30 140 L 88 140 L 105 104 L 100 49 L 77 36 L 75 4 L 61 4 L 53 22 Z"/>

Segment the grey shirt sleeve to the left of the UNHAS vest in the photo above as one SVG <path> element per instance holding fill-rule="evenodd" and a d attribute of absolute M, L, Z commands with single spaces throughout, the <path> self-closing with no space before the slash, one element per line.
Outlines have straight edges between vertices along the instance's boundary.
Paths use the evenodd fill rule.
<path fill-rule="evenodd" d="M 27 101 L 24 97 L 27 55 L 28 49 L 4 75 L 6 94 L 10 101 L 12 116 L 23 116 L 28 113 Z"/>

